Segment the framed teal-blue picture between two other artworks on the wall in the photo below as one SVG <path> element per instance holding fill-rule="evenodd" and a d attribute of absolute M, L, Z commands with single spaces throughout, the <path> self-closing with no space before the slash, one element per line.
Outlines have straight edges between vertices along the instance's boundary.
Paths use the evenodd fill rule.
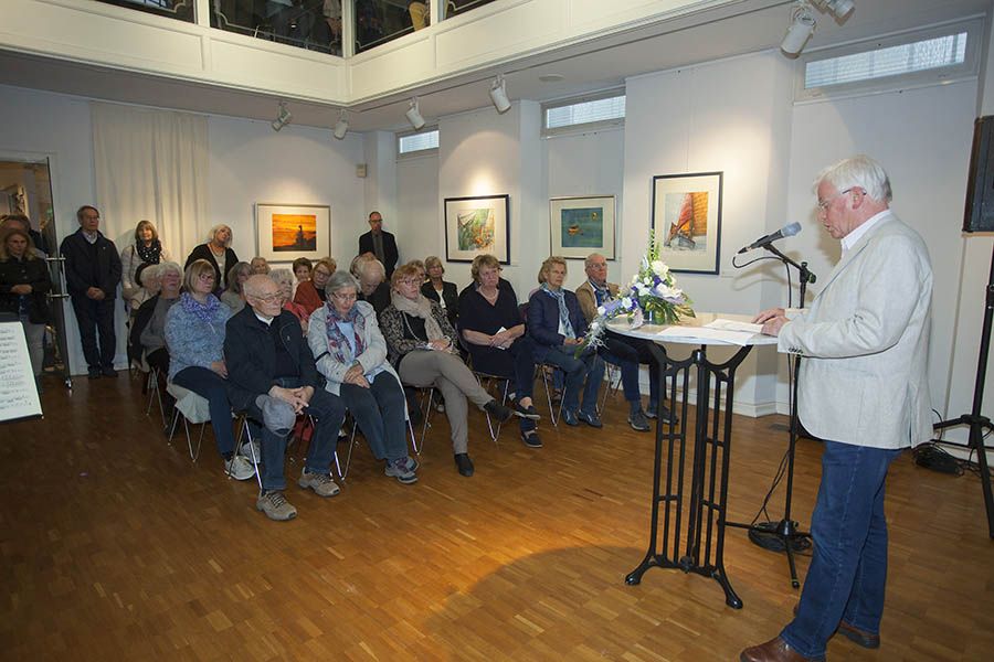
<path fill-rule="evenodd" d="M 552 255 L 583 259 L 600 253 L 614 259 L 614 195 L 550 199 Z"/>

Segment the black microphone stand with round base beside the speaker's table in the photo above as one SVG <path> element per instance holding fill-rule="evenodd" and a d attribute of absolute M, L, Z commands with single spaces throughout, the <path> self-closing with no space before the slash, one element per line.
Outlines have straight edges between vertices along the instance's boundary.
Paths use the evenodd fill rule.
<path fill-rule="evenodd" d="M 807 293 L 807 284 L 814 282 L 816 277 L 807 269 L 807 263 L 802 261 L 800 265 L 778 250 L 772 245 L 763 246 L 766 250 L 775 255 L 783 264 L 794 267 L 799 271 L 801 280 L 801 305 L 804 308 L 804 297 Z M 754 544 L 775 552 L 786 552 L 787 565 L 791 570 L 791 586 L 799 588 L 801 583 L 797 580 L 797 567 L 794 563 L 794 552 L 806 549 L 811 546 L 811 534 L 799 528 L 799 523 L 791 519 L 791 502 L 794 494 L 794 450 L 797 446 L 797 437 L 800 437 L 801 421 L 797 418 L 797 371 L 801 370 L 801 357 L 794 357 L 793 380 L 791 381 L 791 423 L 786 453 L 786 494 L 783 503 L 783 519 L 779 522 L 762 522 L 759 524 L 742 524 L 738 522 L 729 522 L 728 526 L 737 526 L 739 528 L 749 530 L 749 540 Z"/>

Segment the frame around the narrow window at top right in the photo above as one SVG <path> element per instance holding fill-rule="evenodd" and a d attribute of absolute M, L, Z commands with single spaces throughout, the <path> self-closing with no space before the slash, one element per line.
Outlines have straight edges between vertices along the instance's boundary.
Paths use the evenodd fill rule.
<path fill-rule="evenodd" d="M 945 65 L 918 72 L 907 72 L 889 76 L 864 78 L 848 83 L 837 83 L 818 87 L 805 87 L 807 66 L 813 62 L 834 60 L 847 55 L 870 53 L 893 46 L 910 45 L 922 41 L 966 33 L 966 53 L 961 64 Z M 805 51 L 797 58 L 794 77 L 794 103 L 818 102 L 825 99 L 864 96 L 945 85 L 975 78 L 980 70 L 980 50 L 984 38 L 982 18 L 940 23 L 926 29 L 916 29 L 885 34 L 874 39 L 859 40 L 838 46 L 825 46 Z"/>

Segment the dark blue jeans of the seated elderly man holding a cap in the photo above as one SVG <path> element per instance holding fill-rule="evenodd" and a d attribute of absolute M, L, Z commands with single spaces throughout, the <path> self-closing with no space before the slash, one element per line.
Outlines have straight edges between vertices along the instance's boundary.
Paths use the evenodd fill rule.
<path fill-rule="evenodd" d="M 284 388 L 297 388 L 304 386 L 300 380 L 279 377 L 275 380 Z M 332 395 L 324 388 L 316 388 L 310 397 L 310 403 L 304 407 L 304 414 L 314 416 L 314 437 L 307 448 L 307 459 L 304 469 L 308 473 L 328 473 L 331 467 L 331 457 L 335 455 L 335 445 L 338 442 L 338 430 L 345 420 L 345 404 L 337 395 Z M 257 421 L 263 420 L 263 414 L 255 405 L 248 407 L 248 416 Z M 262 462 L 265 465 L 262 472 L 263 490 L 266 492 L 282 491 L 286 489 L 286 478 L 283 476 L 283 457 L 286 453 L 287 435 L 277 435 L 265 426 L 262 427 Z M 257 428 L 253 435 L 257 434 Z"/>

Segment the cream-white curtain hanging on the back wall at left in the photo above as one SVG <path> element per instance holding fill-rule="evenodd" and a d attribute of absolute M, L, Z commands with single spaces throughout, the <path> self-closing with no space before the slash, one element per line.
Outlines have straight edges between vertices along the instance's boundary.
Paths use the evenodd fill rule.
<path fill-rule="evenodd" d="M 91 109 L 101 229 L 121 250 L 147 218 L 182 267 L 210 228 L 207 117 L 97 102 Z"/>

